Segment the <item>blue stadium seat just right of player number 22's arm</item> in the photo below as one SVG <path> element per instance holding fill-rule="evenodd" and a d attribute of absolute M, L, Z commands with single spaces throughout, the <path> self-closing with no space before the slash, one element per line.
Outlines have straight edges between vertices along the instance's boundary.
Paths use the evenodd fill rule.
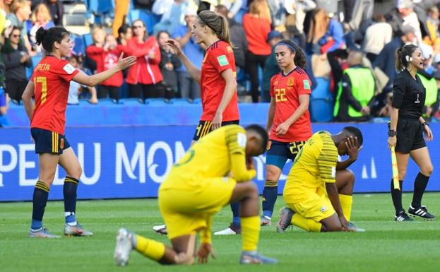
<path fill-rule="evenodd" d="M 333 119 L 333 95 L 330 93 L 330 80 L 316 78 L 316 88 L 310 96 L 309 111 L 312 122 L 329 122 Z"/>

